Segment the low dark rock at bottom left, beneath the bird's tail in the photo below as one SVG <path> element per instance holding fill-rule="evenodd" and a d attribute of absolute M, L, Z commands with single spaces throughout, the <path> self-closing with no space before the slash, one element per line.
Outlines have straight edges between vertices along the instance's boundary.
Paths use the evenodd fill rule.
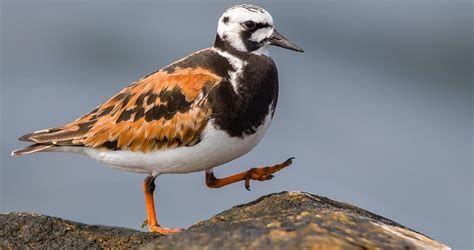
<path fill-rule="evenodd" d="M 131 248 L 161 236 L 35 213 L 0 214 L 0 249 Z"/>

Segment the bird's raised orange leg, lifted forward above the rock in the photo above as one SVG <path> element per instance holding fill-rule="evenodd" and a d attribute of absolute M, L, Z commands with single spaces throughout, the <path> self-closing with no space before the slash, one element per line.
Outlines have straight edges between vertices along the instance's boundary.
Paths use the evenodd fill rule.
<path fill-rule="evenodd" d="M 212 169 L 207 170 L 206 171 L 206 185 L 210 188 L 220 188 L 220 187 L 227 186 L 235 182 L 245 181 L 245 188 L 247 190 L 250 190 L 250 180 L 256 180 L 256 181 L 270 180 L 273 178 L 273 175 L 272 175 L 273 173 L 281 170 L 282 168 L 286 168 L 290 166 L 293 159 L 294 158 L 291 157 L 285 162 L 282 162 L 280 164 L 273 165 L 270 167 L 251 168 L 245 172 L 234 174 L 222 179 L 217 179 L 214 176 Z"/>

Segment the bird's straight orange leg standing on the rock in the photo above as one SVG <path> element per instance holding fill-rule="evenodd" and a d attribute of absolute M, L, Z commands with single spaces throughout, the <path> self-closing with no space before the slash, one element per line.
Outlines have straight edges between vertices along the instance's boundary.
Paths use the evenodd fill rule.
<path fill-rule="evenodd" d="M 166 235 L 183 231 L 182 229 L 178 228 L 166 228 L 160 227 L 160 225 L 158 225 L 158 222 L 156 221 L 155 202 L 153 200 L 153 192 L 155 191 L 154 176 L 150 175 L 145 178 L 145 180 L 143 181 L 143 191 L 145 192 L 145 204 L 148 216 L 147 224 L 150 232 L 156 232 Z"/>

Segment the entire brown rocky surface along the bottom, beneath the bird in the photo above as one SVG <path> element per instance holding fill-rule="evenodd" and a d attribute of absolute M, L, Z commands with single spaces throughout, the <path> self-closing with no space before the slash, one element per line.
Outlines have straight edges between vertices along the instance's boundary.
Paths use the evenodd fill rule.
<path fill-rule="evenodd" d="M 361 208 L 304 192 L 263 196 L 169 236 L 32 213 L 0 214 L 0 249 L 449 249 Z"/>

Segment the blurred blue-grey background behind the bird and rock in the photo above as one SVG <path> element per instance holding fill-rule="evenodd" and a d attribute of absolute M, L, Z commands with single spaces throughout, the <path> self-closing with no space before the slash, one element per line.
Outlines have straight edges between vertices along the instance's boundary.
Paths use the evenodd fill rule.
<path fill-rule="evenodd" d="M 239 2 L 240 3 L 240 2 Z M 188 227 L 257 197 L 303 190 L 472 248 L 471 1 L 256 1 L 304 54 L 272 48 L 277 112 L 226 176 L 295 156 L 271 181 L 209 189 L 163 175 L 158 219 Z M 211 46 L 233 1 L 1 1 L 0 211 L 139 229 L 144 175 L 73 154 L 13 158 L 21 134 L 70 122 Z"/>

